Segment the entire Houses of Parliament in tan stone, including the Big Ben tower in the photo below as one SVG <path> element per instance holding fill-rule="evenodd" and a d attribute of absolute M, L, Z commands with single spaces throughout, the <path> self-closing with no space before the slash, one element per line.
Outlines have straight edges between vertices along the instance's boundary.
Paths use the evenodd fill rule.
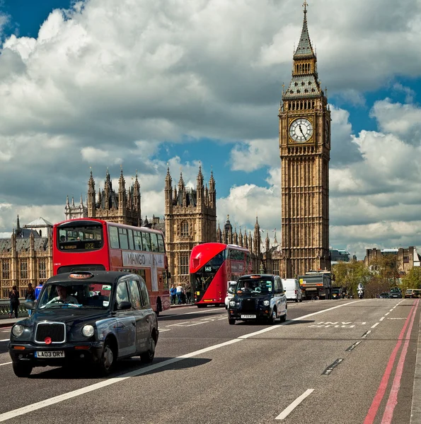
<path fill-rule="evenodd" d="M 117 189 L 107 170 L 103 188 L 97 190 L 91 172 L 85 201 L 81 196 L 79 203 L 75 203 L 68 196 L 64 218 L 100 218 L 162 230 L 171 281 L 176 284 L 188 282 L 190 252 L 192 247 L 204 242 L 248 248 L 256 272 L 291 278 L 309 270 L 330 269 L 330 109 L 318 79 L 316 54 L 308 34 L 306 1 L 301 37 L 292 61 L 292 77 L 287 88 L 282 89 L 278 117 L 282 197 L 280 242 L 276 233 L 272 243 L 267 233 L 263 241 L 258 217 L 253 232 L 233 228 L 229 217 L 219 223 L 214 175 L 211 172 L 209 181 L 204 182 L 201 167 L 195 187 L 185 186 L 183 174 L 177 184 L 173 184 L 170 170 L 167 170 L 163 181 L 163 218 L 142 216 L 138 177 L 136 175 L 126 187 L 122 170 Z M 367 257 L 374 253 L 369 254 L 367 250 Z M 401 253 L 404 258 L 405 252 Z M 0 239 L 1 298 L 8 298 L 12 285 L 18 285 L 23 295 L 28 283 L 37 285 L 51 275 L 52 224 L 38 218 L 21 227 L 18 218 L 11 237 Z"/>

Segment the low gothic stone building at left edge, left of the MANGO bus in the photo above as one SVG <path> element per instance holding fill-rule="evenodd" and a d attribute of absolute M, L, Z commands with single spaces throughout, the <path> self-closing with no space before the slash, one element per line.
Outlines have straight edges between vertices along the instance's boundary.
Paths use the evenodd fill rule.
<path fill-rule="evenodd" d="M 0 296 L 13 285 L 23 298 L 28 283 L 36 287 L 52 276 L 52 224 L 43 218 L 21 228 L 19 217 L 10 238 L 0 239 Z M 40 237 L 43 235 L 43 237 Z"/>

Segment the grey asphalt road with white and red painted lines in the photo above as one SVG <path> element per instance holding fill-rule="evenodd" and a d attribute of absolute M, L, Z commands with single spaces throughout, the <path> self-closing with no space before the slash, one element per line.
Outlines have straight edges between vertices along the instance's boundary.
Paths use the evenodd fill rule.
<path fill-rule="evenodd" d="M 159 317 L 154 363 L 13 374 L 0 329 L 0 422 L 410 423 L 418 300 L 288 304 L 285 324 L 228 324 L 223 308 Z M 415 421 L 414 421 L 415 422 Z"/>

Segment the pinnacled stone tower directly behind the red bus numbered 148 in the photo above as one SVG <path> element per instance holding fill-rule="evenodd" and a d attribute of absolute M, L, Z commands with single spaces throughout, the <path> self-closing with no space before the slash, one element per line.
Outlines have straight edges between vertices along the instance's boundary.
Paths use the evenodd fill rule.
<path fill-rule="evenodd" d="M 180 174 L 178 187 L 168 168 L 165 179 L 165 237 L 171 282 L 189 280 L 190 252 L 195 245 L 217 240 L 217 192 L 213 172 L 209 189 L 203 185 L 202 167 L 197 174 L 196 189 L 185 187 Z"/>

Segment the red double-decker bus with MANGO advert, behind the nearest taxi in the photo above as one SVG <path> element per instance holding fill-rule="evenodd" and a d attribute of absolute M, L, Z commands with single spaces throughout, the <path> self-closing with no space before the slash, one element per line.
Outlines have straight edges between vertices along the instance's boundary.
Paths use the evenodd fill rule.
<path fill-rule="evenodd" d="M 92 218 L 54 224 L 53 273 L 125 271 L 142 276 L 156 312 L 170 308 L 168 261 L 163 234 Z"/>

